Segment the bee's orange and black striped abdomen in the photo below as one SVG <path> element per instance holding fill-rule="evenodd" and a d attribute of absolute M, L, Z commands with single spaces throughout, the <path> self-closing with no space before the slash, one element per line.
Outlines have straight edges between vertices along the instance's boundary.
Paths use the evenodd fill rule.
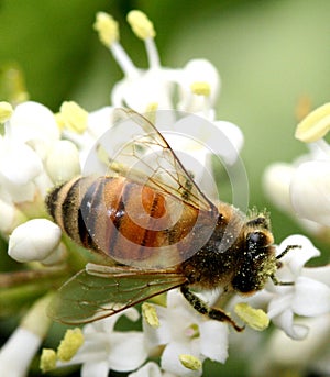
<path fill-rule="evenodd" d="M 156 258 L 155 248 L 180 241 L 197 217 L 184 208 L 172 223 L 162 193 L 124 177 L 75 178 L 55 188 L 46 204 L 74 241 L 123 263 Z"/>

